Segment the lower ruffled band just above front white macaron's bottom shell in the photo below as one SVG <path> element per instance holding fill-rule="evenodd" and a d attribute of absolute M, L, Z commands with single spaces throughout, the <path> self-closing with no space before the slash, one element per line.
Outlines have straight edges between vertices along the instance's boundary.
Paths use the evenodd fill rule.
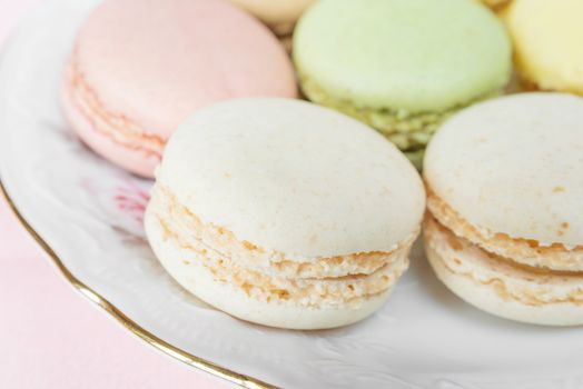
<path fill-rule="evenodd" d="M 168 202 L 155 189 L 148 212 L 151 212 L 164 231 L 164 240 L 188 252 L 182 259 L 185 266 L 205 267 L 216 281 L 245 292 L 247 296 L 266 302 L 292 303 L 304 307 L 349 305 L 358 307 L 365 299 L 386 292 L 408 267 L 409 247 L 399 250 L 391 261 L 385 261 L 370 273 L 346 275 L 340 277 L 290 277 L 278 269 L 248 267 L 245 261 L 230 256 L 229 248 L 220 241 L 208 242 L 196 237 L 196 232 L 185 236 L 178 232 L 179 221 L 185 219 L 170 212 Z M 175 206 L 176 207 L 176 206 Z M 204 229 L 205 226 L 201 226 Z M 211 228 L 213 229 L 213 228 Z M 226 235 L 227 231 L 224 231 Z M 229 232 L 230 233 L 230 232 Z M 227 240 L 229 242 L 229 240 Z M 214 245 L 213 245 L 214 243 Z M 243 245 L 243 243 L 241 243 Z M 253 251 L 253 250 L 251 250 Z M 366 262 L 366 260 L 363 260 Z M 330 265 L 330 268 L 334 268 Z M 267 271 L 266 271 L 267 270 Z M 334 271 L 333 271 L 334 273 Z"/>

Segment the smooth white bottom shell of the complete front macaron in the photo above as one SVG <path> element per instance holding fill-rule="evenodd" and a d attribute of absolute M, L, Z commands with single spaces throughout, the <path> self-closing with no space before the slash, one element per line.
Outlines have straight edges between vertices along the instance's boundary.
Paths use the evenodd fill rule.
<path fill-rule="evenodd" d="M 286 329 L 314 330 L 347 326 L 375 312 L 387 300 L 394 287 L 365 299 L 357 308 L 347 306 L 300 307 L 260 301 L 216 280 L 198 261 L 185 261 L 191 252 L 174 240 L 165 239 L 165 231 L 151 212 L 146 213 L 146 232 L 150 246 L 165 269 L 185 289 L 213 307 L 238 319 Z"/>

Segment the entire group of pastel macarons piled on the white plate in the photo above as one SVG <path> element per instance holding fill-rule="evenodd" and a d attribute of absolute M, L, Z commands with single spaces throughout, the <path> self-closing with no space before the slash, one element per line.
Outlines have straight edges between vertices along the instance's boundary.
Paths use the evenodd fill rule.
<path fill-rule="evenodd" d="M 427 192 L 425 248 L 449 289 L 580 325 L 583 99 L 497 96 L 513 46 L 528 89 L 583 94 L 583 8 L 484 2 L 106 0 L 71 50 L 63 111 L 105 159 L 157 170 L 154 251 L 237 318 L 372 315 L 408 267 Z"/>

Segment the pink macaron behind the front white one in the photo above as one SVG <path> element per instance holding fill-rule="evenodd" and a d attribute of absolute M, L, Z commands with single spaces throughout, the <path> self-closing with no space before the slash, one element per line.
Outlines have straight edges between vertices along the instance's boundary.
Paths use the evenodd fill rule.
<path fill-rule="evenodd" d="M 91 149 L 152 177 L 191 111 L 231 98 L 295 97 L 296 89 L 275 36 L 229 2 L 108 0 L 78 33 L 61 100 Z"/>

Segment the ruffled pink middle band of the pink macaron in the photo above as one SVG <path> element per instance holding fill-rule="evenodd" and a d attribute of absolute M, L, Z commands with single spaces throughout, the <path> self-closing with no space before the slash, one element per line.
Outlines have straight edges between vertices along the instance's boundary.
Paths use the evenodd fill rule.
<path fill-rule="evenodd" d="M 67 67 L 66 80 L 71 100 L 96 131 L 123 147 L 141 150 L 147 156 L 161 157 L 166 141 L 148 133 L 123 114 L 108 111 L 85 80 L 75 53 Z"/>

